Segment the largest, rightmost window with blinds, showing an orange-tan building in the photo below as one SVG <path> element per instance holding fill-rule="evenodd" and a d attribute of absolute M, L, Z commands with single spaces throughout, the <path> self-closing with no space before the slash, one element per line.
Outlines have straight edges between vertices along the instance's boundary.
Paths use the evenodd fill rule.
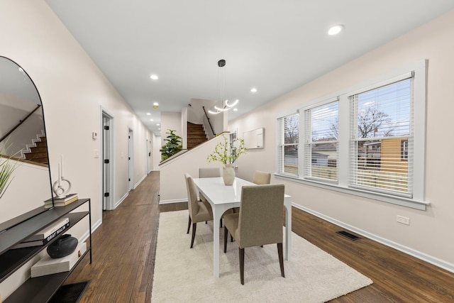
<path fill-rule="evenodd" d="M 411 78 L 350 96 L 350 187 L 411 197 Z"/>

